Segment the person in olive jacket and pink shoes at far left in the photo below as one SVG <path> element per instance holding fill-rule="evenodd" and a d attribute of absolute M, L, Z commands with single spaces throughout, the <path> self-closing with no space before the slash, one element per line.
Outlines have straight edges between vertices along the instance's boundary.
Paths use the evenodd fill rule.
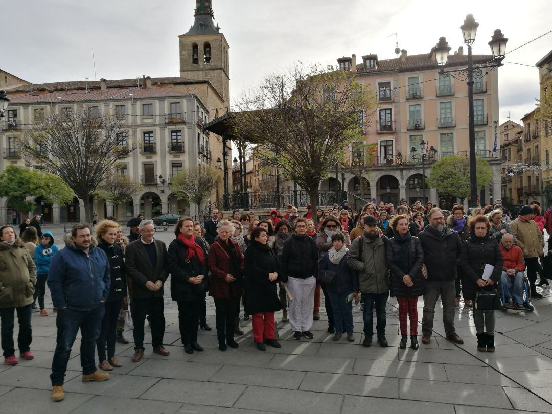
<path fill-rule="evenodd" d="M 34 358 L 30 344 L 33 340 L 31 304 L 35 283 L 36 266 L 30 253 L 23 247 L 21 239 L 15 237 L 12 226 L 0 227 L 0 323 L 4 363 L 8 365 L 19 362 L 13 343 L 15 311 L 19 321 L 17 343 L 20 356 Z"/>

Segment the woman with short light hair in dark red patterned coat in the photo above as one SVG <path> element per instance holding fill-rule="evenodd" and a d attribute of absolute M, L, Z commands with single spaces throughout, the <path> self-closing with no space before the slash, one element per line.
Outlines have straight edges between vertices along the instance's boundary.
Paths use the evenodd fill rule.
<path fill-rule="evenodd" d="M 226 351 L 227 345 L 238 348 L 233 335 L 242 294 L 243 254 L 231 239 L 233 232 L 234 226 L 229 220 L 220 220 L 217 224 L 219 237 L 211 245 L 208 257 L 213 276 L 209 296 L 215 302 L 216 335 L 221 351 Z"/>

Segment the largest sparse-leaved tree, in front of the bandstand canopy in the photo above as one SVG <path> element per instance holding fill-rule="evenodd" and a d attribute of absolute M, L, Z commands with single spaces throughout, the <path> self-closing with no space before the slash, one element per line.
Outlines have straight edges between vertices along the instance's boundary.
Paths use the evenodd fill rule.
<path fill-rule="evenodd" d="M 268 148 L 259 152 L 261 161 L 272 164 L 267 154 L 275 154 L 282 173 L 309 192 L 316 211 L 320 182 L 359 139 L 360 124 L 375 107 L 375 94 L 355 82 L 351 72 L 294 66 L 243 94 L 240 112 L 232 117 L 233 132 Z"/>

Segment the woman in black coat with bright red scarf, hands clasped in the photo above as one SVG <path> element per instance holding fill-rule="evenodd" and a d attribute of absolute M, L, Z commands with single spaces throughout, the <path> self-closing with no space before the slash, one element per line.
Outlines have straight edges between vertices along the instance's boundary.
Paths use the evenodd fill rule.
<path fill-rule="evenodd" d="M 183 217 L 174 226 L 176 238 L 167 251 L 171 298 L 178 303 L 178 327 L 184 351 L 203 351 L 198 344 L 200 302 L 209 289 L 207 252 L 194 236 L 194 220 Z"/>

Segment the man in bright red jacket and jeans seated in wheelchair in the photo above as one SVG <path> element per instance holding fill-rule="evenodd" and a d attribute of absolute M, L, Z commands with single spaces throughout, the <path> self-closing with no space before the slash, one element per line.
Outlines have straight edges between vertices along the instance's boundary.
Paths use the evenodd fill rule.
<path fill-rule="evenodd" d="M 500 283 L 504 288 L 506 306 L 523 309 L 523 272 L 525 262 L 521 248 L 514 246 L 514 237 L 505 233 L 500 241 L 500 250 L 504 258 L 504 269 Z M 515 305 L 514 305 L 515 304 Z"/>

